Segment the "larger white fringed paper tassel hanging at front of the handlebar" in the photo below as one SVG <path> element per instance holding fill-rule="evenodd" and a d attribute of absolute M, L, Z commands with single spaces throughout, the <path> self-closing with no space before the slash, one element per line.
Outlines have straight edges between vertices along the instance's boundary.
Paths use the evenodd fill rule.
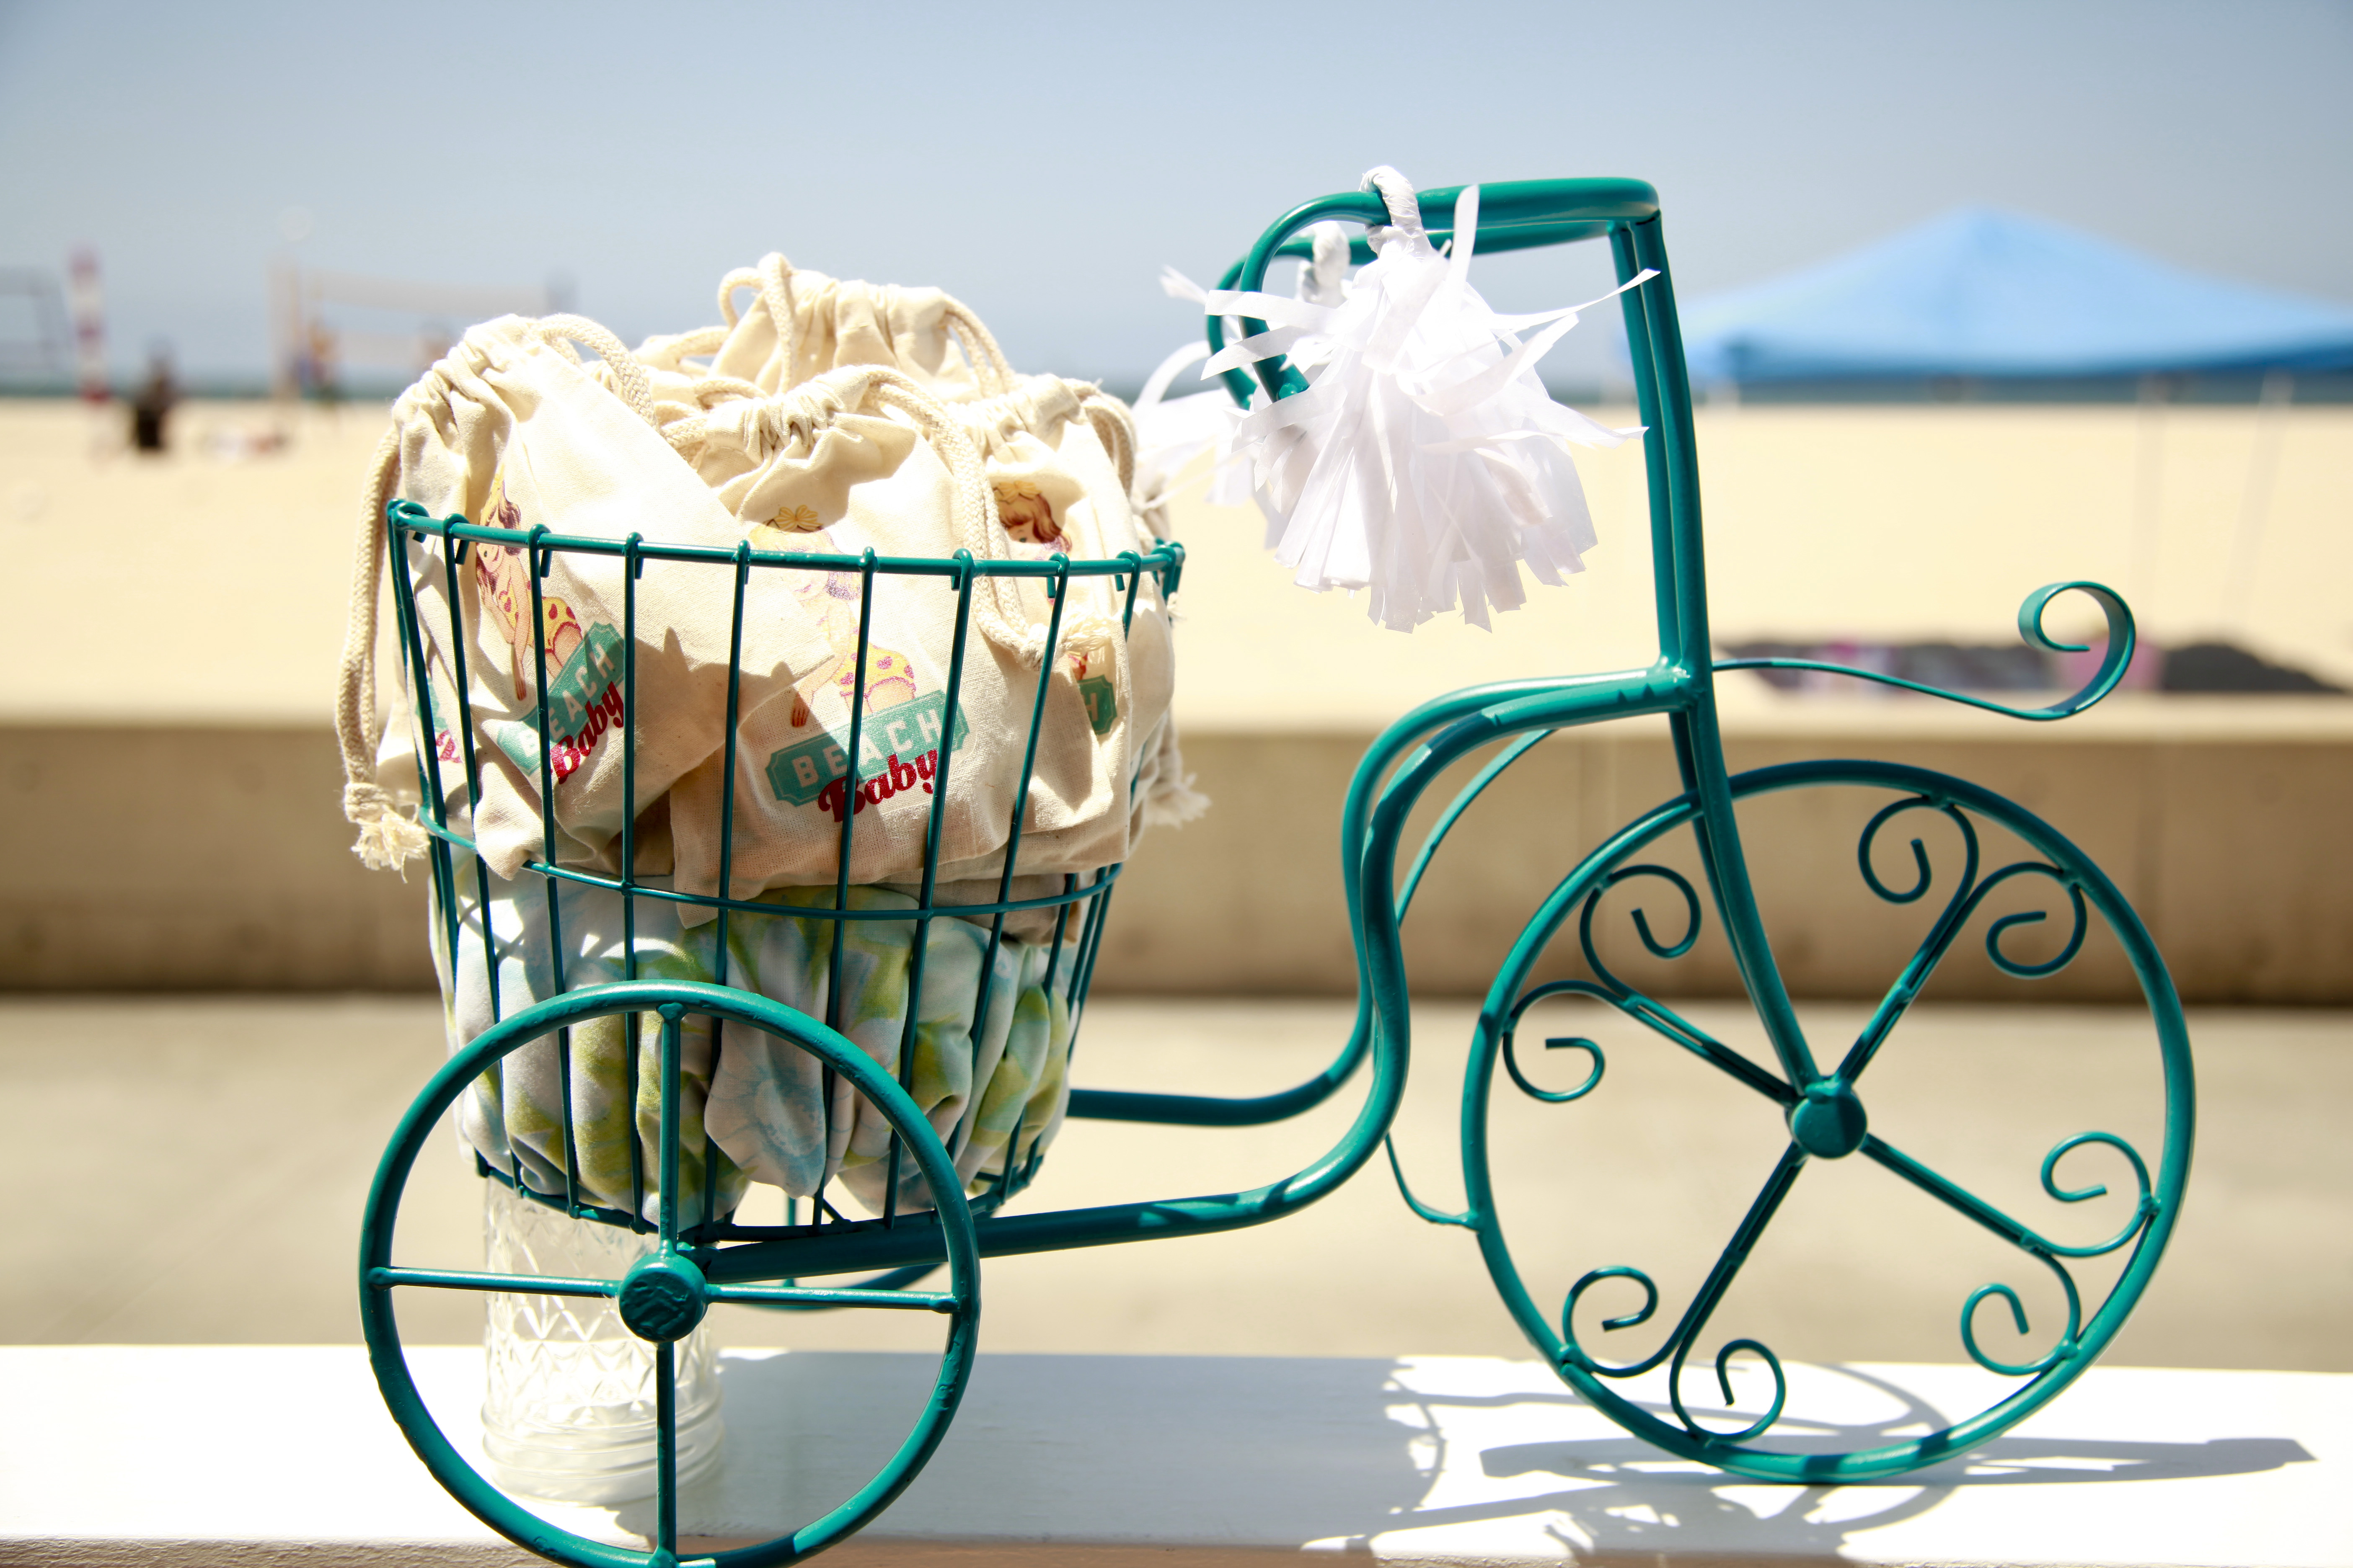
<path fill-rule="evenodd" d="M 1200 374 L 1289 355 L 1308 378 L 1280 402 L 1254 400 L 1231 437 L 1252 461 L 1275 559 L 1301 588 L 1365 588 L 1367 614 L 1395 630 L 1457 607 L 1487 625 L 1489 604 L 1527 599 L 1522 562 L 1539 583 L 1584 571 L 1593 517 L 1569 442 L 1617 447 L 1642 433 L 1553 402 L 1537 362 L 1579 310 L 1652 273 L 1584 306 L 1499 315 L 1468 282 L 1478 186 L 1454 205 L 1447 254 L 1431 247 L 1405 176 L 1381 167 L 1365 186 L 1379 188 L 1391 216 L 1367 235 L 1374 261 L 1337 303 L 1306 289 L 1301 299 L 1207 292 L 1202 310 L 1247 315 L 1266 331 L 1209 355 Z"/>

